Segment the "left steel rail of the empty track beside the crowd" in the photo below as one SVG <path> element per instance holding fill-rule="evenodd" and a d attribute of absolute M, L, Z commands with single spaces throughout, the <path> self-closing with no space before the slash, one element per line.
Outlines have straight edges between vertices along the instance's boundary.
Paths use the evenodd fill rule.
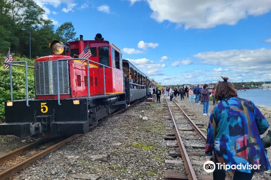
<path fill-rule="evenodd" d="M 166 101 L 167 101 L 167 98 L 166 98 Z M 173 114 L 171 112 L 168 101 L 167 101 L 167 106 L 168 106 L 168 109 L 170 111 L 170 116 L 172 118 L 172 121 L 174 123 L 174 132 L 176 134 L 176 140 L 178 142 L 178 146 L 179 146 L 179 149 L 181 151 L 182 159 L 184 161 L 183 163 L 184 163 L 185 170 L 186 170 L 186 173 L 187 173 L 187 176 L 188 176 L 188 180 L 197 180 L 197 176 L 196 176 L 195 171 L 193 169 L 192 163 L 191 163 L 191 161 L 190 161 L 190 159 L 188 157 L 188 153 L 186 152 L 184 143 L 182 142 L 181 135 L 179 133 L 177 124 L 176 124 L 175 119 L 173 117 Z"/>

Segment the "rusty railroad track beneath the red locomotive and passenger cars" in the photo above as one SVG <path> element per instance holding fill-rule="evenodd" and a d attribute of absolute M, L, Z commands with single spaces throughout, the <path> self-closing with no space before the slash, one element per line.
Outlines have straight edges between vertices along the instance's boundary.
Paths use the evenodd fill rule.
<path fill-rule="evenodd" d="M 139 102 L 142 102 L 143 100 L 145 100 L 145 99 L 137 101 L 137 102 L 131 104 L 129 107 L 132 107 L 133 105 L 135 105 L 135 104 L 137 104 Z M 123 112 L 125 110 L 126 109 L 119 110 L 119 111 L 117 111 L 115 113 L 112 113 L 110 116 L 117 115 L 117 114 L 119 114 L 119 113 L 121 113 L 121 112 Z M 102 121 L 100 121 L 100 122 L 102 122 Z M 91 126 L 89 128 L 92 129 L 93 126 Z M 18 164 L 14 165 L 14 166 L 11 166 L 11 167 L 4 167 L 4 166 L 1 166 L 1 164 L 3 164 L 5 161 L 12 160 L 12 158 L 14 158 L 17 155 L 20 155 L 20 154 L 22 154 L 24 152 L 30 151 L 30 150 L 34 149 L 35 147 L 50 141 L 50 139 L 37 140 L 37 141 L 35 141 L 33 143 L 30 143 L 30 144 L 28 144 L 26 146 L 22 146 L 22 147 L 20 147 L 18 149 L 15 149 L 15 150 L 13 150 L 11 152 L 8 152 L 8 153 L 0 156 L 0 180 L 8 179 L 10 176 L 13 176 L 14 174 L 16 174 L 19 170 L 22 170 L 22 169 L 26 168 L 28 164 L 31 164 L 31 163 L 35 162 L 36 160 L 38 160 L 39 158 L 41 158 L 41 157 L 43 157 L 45 155 L 48 155 L 49 153 L 51 153 L 51 152 L 55 151 L 56 149 L 66 145 L 66 143 L 76 139 L 77 137 L 79 137 L 81 135 L 82 134 L 74 134 L 74 135 L 62 140 L 61 142 L 56 143 L 55 145 L 50 146 L 50 147 L 46 148 L 45 150 L 42 150 L 39 153 L 36 153 L 35 155 L 31 156 L 30 158 L 27 158 L 24 161 L 21 161 Z"/>

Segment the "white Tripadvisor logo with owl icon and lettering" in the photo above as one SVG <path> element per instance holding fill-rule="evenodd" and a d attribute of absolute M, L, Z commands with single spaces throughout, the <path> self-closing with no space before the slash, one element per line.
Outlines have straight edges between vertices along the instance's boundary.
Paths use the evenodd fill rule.
<path fill-rule="evenodd" d="M 217 165 L 217 166 L 216 166 Z M 215 163 L 213 161 L 206 161 L 203 164 L 203 169 L 204 171 L 206 171 L 207 173 L 213 173 L 214 170 L 216 169 L 216 167 L 218 168 L 217 170 L 260 170 L 260 164 L 220 164 L 220 163 Z"/>

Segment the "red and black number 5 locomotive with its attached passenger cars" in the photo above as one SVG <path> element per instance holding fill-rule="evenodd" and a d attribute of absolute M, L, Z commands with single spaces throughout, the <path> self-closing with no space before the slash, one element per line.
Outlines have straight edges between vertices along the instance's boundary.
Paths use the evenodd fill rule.
<path fill-rule="evenodd" d="M 11 101 L 5 102 L 6 122 L 0 124 L 0 135 L 84 134 L 114 111 L 146 98 L 148 86 L 153 85 L 144 73 L 123 61 L 120 49 L 101 34 L 91 41 L 84 41 L 82 35 L 79 41 L 52 41 L 50 47 L 51 55 L 35 61 L 35 99 L 28 99 L 28 92 L 25 100 L 12 101 L 11 95 Z M 91 56 L 78 58 L 84 50 L 90 50 Z M 129 75 L 133 81 L 127 80 Z"/>

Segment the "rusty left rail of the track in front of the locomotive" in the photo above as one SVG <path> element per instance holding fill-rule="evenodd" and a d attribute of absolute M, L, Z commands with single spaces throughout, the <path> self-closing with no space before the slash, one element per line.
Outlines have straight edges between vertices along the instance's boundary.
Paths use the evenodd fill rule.
<path fill-rule="evenodd" d="M 8 153 L 0 156 L 0 164 L 13 158 L 16 155 L 20 155 L 23 152 L 29 151 L 29 150 L 33 149 L 34 147 L 39 146 L 40 144 L 43 144 L 47 141 L 48 141 L 48 139 L 41 139 L 41 140 L 37 140 L 33 143 L 27 144 L 25 146 L 22 146 L 20 148 L 14 149 L 13 151 L 8 152 Z"/>

